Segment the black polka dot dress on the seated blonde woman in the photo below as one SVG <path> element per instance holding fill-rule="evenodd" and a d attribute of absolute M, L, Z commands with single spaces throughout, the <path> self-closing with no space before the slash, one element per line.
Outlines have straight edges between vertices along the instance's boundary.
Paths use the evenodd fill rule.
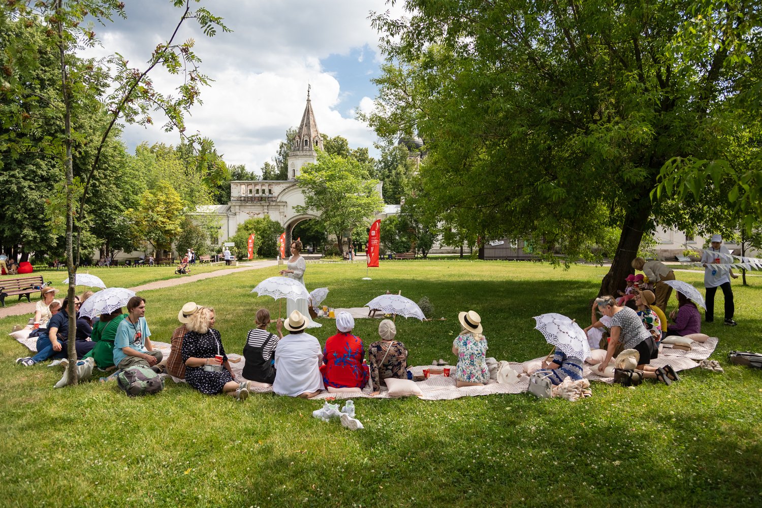
<path fill-rule="evenodd" d="M 218 351 L 219 353 L 217 353 Z M 183 337 L 182 354 L 183 362 L 186 362 L 191 357 L 214 358 L 216 354 L 223 355 L 225 362 L 228 360 L 219 331 L 216 331 L 214 328 L 210 328 L 206 334 L 199 334 L 196 331 L 187 332 Z M 185 381 L 201 393 L 215 395 L 223 392 L 225 383 L 235 380 L 226 369 L 222 372 L 207 372 L 203 369 L 203 366 L 188 366 L 185 368 Z"/>

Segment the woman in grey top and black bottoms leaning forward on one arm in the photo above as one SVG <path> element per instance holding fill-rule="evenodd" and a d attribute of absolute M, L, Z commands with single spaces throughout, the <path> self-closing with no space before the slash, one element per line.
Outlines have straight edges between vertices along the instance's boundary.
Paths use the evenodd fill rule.
<path fill-rule="evenodd" d="M 643 321 L 639 318 L 637 312 L 629 307 L 620 307 L 616 305 L 613 296 L 601 296 L 595 299 L 600 313 L 611 318 L 611 336 L 609 347 L 607 348 L 606 358 L 601 362 L 593 372 L 599 375 L 604 374 L 604 369 L 614 356 L 614 351 L 619 343 L 623 343 L 625 349 L 636 350 L 639 353 L 639 364 L 637 370 L 642 371 L 642 377 L 648 379 L 657 379 L 670 385 L 672 381 L 680 380 L 680 376 L 674 372 L 671 366 L 655 368 L 648 363 L 654 354 L 656 344 L 651 332 L 645 329 Z"/>

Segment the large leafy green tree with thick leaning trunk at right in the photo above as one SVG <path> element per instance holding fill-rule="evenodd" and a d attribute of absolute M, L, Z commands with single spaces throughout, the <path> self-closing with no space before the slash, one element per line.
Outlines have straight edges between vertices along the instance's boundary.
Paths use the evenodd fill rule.
<path fill-rule="evenodd" d="M 370 124 L 431 140 L 424 187 L 454 231 L 522 237 L 547 259 L 562 245 L 568 263 L 620 228 L 600 292 L 661 223 L 661 169 L 715 159 L 729 98 L 759 72 L 756 2 L 404 5 L 407 22 L 373 18 L 389 62 Z"/>

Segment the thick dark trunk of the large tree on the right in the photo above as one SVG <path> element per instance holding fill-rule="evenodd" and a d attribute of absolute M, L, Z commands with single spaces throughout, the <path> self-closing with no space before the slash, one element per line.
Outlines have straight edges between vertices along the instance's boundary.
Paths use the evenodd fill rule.
<path fill-rule="evenodd" d="M 600 283 L 598 296 L 616 296 L 618 289 L 623 290 L 626 286 L 626 278 L 632 270 L 632 260 L 638 256 L 638 248 L 643 238 L 643 232 L 648 225 L 651 216 L 652 204 L 648 195 L 640 201 L 632 203 L 624 217 L 622 235 L 616 246 L 616 254 L 611 262 L 609 273 L 604 276 Z"/>

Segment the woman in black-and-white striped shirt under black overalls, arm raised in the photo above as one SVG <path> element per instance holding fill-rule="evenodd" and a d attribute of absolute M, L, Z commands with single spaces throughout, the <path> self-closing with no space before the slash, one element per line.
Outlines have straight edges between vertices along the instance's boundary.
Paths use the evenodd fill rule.
<path fill-rule="evenodd" d="M 273 384 L 275 381 L 274 356 L 278 340 L 283 338 L 283 321 L 278 319 L 275 324 L 277 335 L 267 331 L 271 324 L 270 311 L 260 308 L 255 317 L 256 327 L 248 331 L 246 344 L 243 347 L 243 357 L 246 363 L 243 367 L 243 377 L 249 381 Z"/>

